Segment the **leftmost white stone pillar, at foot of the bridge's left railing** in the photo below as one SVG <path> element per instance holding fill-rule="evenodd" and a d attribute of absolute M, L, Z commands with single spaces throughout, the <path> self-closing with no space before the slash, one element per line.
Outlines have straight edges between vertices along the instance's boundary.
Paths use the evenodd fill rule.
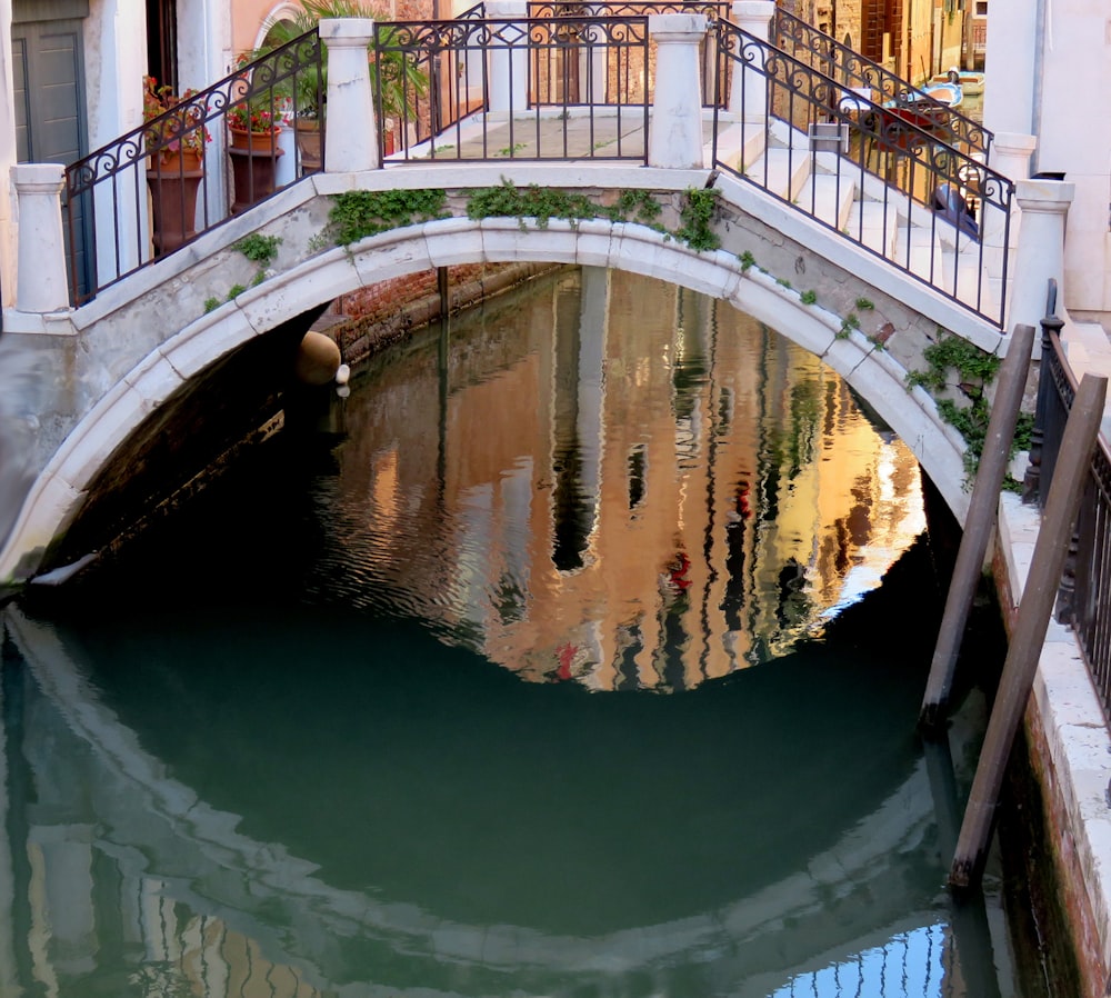
<path fill-rule="evenodd" d="M 19 199 L 16 308 L 21 312 L 69 308 L 62 238 L 66 168 L 60 163 L 17 163 L 11 168 L 11 182 Z"/>

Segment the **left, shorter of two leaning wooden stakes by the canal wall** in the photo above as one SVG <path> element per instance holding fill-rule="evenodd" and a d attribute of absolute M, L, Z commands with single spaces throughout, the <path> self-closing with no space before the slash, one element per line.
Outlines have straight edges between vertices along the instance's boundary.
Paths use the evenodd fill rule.
<path fill-rule="evenodd" d="M 1011 456 L 1011 443 L 1014 440 L 1014 427 L 1019 421 L 1019 410 L 1022 408 L 1022 391 L 1027 383 L 1033 345 L 1034 328 L 1015 326 L 1007 348 L 1007 357 L 1003 358 L 999 369 L 999 388 L 991 407 L 988 436 L 980 457 L 980 467 L 977 469 L 975 483 L 972 487 L 972 498 L 964 519 L 964 533 L 957 552 L 953 578 L 949 583 L 949 596 L 945 598 L 945 612 L 941 618 L 938 643 L 930 666 L 930 678 L 927 680 L 925 696 L 922 699 L 922 712 L 919 716 L 919 725 L 927 731 L 935 730 L 945 719 L 957 656 L 961 650 L 964 626 L 968 623 L 972 598 L 975 596 L 980 572 L 983 570 L 983 558 L 995 520 L 995 510 L 999 507 L 999 490 L 1003 485 L 1003 476 L 1007 473 L 1007 463 Z"/>

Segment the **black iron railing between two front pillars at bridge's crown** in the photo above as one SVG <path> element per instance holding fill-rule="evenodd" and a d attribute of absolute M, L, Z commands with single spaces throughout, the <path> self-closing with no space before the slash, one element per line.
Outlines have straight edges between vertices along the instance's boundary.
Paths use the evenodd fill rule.
<path fill-rule="evenodd" d="M 396 161 L 647 162 L 645 17 L 393 21 L 372 51 Z M 411 72 L 383 80 L 399 62 Z"/>

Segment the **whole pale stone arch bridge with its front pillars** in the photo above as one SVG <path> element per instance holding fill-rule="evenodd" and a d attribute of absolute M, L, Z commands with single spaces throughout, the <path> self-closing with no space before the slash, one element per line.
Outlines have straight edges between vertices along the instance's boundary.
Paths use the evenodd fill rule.
<path fill-rule="evenodd" d="M 763 11 L 767 29 L 764 8 L 773 4 L 755 6 Z M 657 41 L 670 46 L 667 52 L 660 50 L 655 87 L 657 94 L 670 96 L 655 100 L 650 114 L 645 104 L 643 120 L 645 129 L 650 122 L 650 133 L 642 137 L 640 164 L 574 159 L 567 152 L 561 160 L 533 163 L 433 158 L 383 164 L 377 132 L 364 127 L 376 120 L 362 54 L 372 24 L 322 21 L 321 40 L 337 46 L 328 80 L 326 171 L 291 183 L 176 252 L 109 283 L 76 308 L 68 307 L 66 266 L 60 262 L 61 168 L 16 167 L 20 272 L 17 306 L 6 311 L 0 336 L 0 585 L 18 586 L 92 557 L 119 533 L 119 525 L 100 512 L 106 499 L 117 505 L 130 500 L 134 516 L 166 499 L 134 488 L 129 493 L 128 483 L 144 470 L 152 472 L 148 480 L 164 470 L 158 467 L 164 460 L 164 453 L 159 456 L 160 439 L 188 438 L 191 433 L 182 433 L 183 427 L 218 421 L 233 406 L 226 397 L 213 406 L 211 396 L 201 391 L 218 367 L 227 373 L 230 365 L 243 377 L 261 370 L 264 378 L 267 366 L 274 362 L 267 347 L 296 345 L 316 315 L 338 296 L 453 263 L 552 261 L 615 268 L 658 277 L 742 309 L 840 373 L 910 446 L 963 520 L 968 502 L 963 441 L 942 421 L 929 395 L 909 389 L 907 377 L 925 367 L 923 350 L 941 330 L 988 353 L 1005 350 L 1002 321 L 990 319 L 992 312 L 979 305 L 989 232 L 984 230 L 979 246 L 974 241 L 970 246 L 967 238 L 962 243 L 955 226 L 915 206 L 905 219 L 900 266 L 892 262 L 893 236 L 881 233 L 880 249 L 867 240 L 844 238 L 847 224 L 822 220 L 814 210 L 830 188 L 819 181 L 833 180 L 839 202 L 834 221 L 855 211 L 862 231 L 863 202 L 840 203 L 842 194 L 848 193 L 850 201 L 852 197 L 840 173 L 832 178 L 814 173 L 807 180 L 792 166 L 817 169 L 821 157 L 832 157 L 835 166 L 837 153 L 817 152 L 811 141 L 809 152 L 801 154 L 794 133 L 787 136 L 785 150 L 763 148 L 773 138 L 774 121 L 767 114 L 767 127 L 759 131 L 761 149 L 750 148 L 744 126 L 755 91 L 740 86 L 741 73 L 754 71 L 749 63 L 738 63 L 737 108 L 731 117 L 714 112 L 707 144 L 707 118 L 694 83 L 705 19 L 660 14 L 648 23 Z M 689 88 L 675 82 L 688 77 Z M 767 87 L 767 80 L 761 86 Z M 730 136 L 735 141 L 738 133 L 739 148 L 730 153 Z M 773 151 L 785 152 L 785 159 L 772 157 Z M 744 164 L 754 162 L 758 152 L 767 153 L 764 161 L 771 167 L 773 160 L 785 163 L 787 196 L 769 189 L 771 167 L 763 169 L 763 184 L 749 182 Z M 870 207 L 879 207 L 884 227 L 894 226 L 883 181 L 873 177 L 867 183 L 872 186 Z M 503 184 L 581 194 L 599 206 L 599 217 L 538 222 L 473 210 L 474 192 Z M 1005 267 L 994 275 L 993 315 L 1004 315 L 1009 283 L 1034 289 L 1035 299 L 1043 299 L 1044 278 L 1060 271 L 1068 204 L 1057 188 L 1063 187 L 1053 181 L 1020 182 L 1018 202 L 1024 216 L 1039 219 L 1039 226 L 1023 227 L 1029 238 L 1020 231 L 1013 240 L 1018 261 L 1013 279 Z M 330 213 L 338 196 L 406 189 L 442 191 L 443 210 L 437 212 L 441 217 L 401 224 L 349 246 L 334 244 Z M 715 192 L 710 227 L 720 248 L 697 250 L 673 233 L 681 227 L 684 201 L 704 197 L 699 192 L 708 189 Z M 809 213 L 792 204 L 803 190 L 811 201 Z M 657 223 L 603 210 L 619 204 L 622 193 L 630 191 L 660 207 Z M 1050 209 L 1041 210 L 1043 202 Z M 471 217 L 476 214 L 487 217 Z M 910 236 L 915 214 L 918 231 L 928 233 L 929 244 L 920 258 L 927 275 L 913 262 Z M 900 218 L 898 224 L 902 223 Z M 261 275 L 258 265 L 237 249 L 252 233 L 280 240 Z M 1005 249 L 1011 237 L 1003 229 L 992 238 L 1000 234 Z M 945 266 L 955 293 L 947 292 L 933 273 L 945 240 L 950 258 Z M 974 302 L 960 290 L 962 244 L 974 249 L 964 257 L 981 268 L 974 278 Z M 1017 303 L 1019 296 L 1011 297 L 1015 301 L 1010 313 L 1017 321 L 1041 318 L 1040 311 L 1027 316 Z"/>

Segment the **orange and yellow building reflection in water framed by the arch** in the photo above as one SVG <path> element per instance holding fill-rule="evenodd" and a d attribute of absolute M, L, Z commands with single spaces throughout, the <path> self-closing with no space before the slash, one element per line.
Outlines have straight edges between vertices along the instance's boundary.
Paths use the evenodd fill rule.
<path fill-rule="evenodd" d="M 924 528 L 909 449 L 727 305 L 587 268 L 450 337 L 439 427 L 431 348 L 349 400 L 343 597 L 523 678 L 679 690 L 785 655 Z"/>

